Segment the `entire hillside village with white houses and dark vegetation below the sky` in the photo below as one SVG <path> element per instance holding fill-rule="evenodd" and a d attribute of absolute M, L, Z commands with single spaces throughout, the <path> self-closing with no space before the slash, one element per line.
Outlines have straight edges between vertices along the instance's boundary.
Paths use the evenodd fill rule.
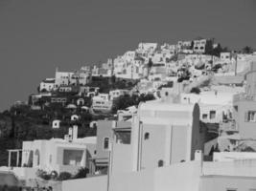
<path fill-rule="evenodd" d="M 256 190 L 249 47 L 142 42 L 101 65 L 56 69 L 36 91 L 0 114 L 0 186 Z"/>

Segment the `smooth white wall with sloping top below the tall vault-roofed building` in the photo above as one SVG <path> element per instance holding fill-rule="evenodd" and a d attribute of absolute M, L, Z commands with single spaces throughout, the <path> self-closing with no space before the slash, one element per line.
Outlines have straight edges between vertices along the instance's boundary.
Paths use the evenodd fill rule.
<path fill-rule="evenodd" d="M 110 178 L 111 191 L 198 191 L 200 162 L 117 174 Z"/>

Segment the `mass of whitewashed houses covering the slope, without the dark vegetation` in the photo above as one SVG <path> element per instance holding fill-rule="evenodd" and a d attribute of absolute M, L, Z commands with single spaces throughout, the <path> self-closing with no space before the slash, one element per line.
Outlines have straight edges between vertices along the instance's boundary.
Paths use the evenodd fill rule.
<path fill-rule="evenodd" d="M 140 43 L 101 68 L 57 71 L 56 78 L 41 82 L 36 96 L 49 95 L 71 108 L 52 93 L 77 88 L 74 106 L 85 106 L 82 97 L 92 94 L 92 110 L 109 110 L 128 90 L 101 94 L 82 88 L 91 76 L 115 75 L 138 79 L 134 89 L 155 100 L 118 111 L 114 119 L 92 121 L 96 137 L 78 138 L 74 125 L 64 138 L 24 141 L 22 149 L 9 150 L 8 170 L 28 180 L 36 179 L 38 169 L 58 174 L 88 169 L 87 178 L 62 181 L 62 191 L 255 191 L 256 54 L 217 57 L 204 54 L 206 44 L 206 39 Z"/>

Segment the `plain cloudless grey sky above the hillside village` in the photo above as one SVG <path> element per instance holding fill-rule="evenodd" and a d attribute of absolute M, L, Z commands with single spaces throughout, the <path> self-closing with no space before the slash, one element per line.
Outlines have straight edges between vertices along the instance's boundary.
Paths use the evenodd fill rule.
<path fill-rule="evenodd" d="M 215 37 L 256 48 L 255 0 L 0 0 L 0 111 L 60 71 L 105 62 L 139 42 Z"/>

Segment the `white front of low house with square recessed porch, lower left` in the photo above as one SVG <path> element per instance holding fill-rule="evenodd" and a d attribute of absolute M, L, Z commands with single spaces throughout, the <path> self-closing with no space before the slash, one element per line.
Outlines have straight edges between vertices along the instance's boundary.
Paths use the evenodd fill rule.
<path fill-rule="evenodd" d="M 22 165 L 46 171 L 76 173 L 86 166 L 86 143 L 61 138 L 23 141 Z"/>

